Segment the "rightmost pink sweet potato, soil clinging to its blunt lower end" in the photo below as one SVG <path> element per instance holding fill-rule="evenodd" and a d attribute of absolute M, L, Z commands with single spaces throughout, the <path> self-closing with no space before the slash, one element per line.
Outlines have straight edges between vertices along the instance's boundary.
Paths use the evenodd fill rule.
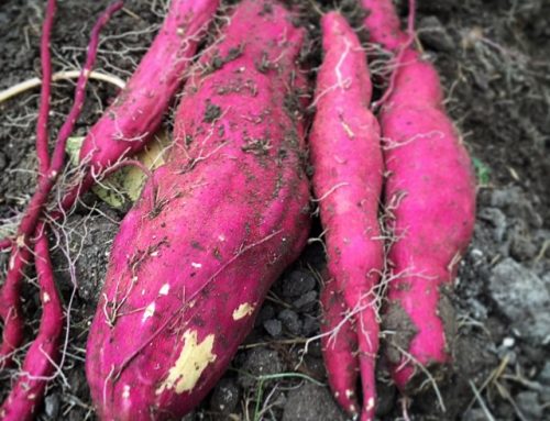
<path fill-rule="evenodd" d="M 444 112 L 438 74 L 410 47 L 414 1 L 408 35 L 391 0 L 363 0 L 363 5 L 371 41 L 396 54 L 380 115 L 387 141 L 385 200 L 395 235 L 384 318 L 386 330 L 394 332 L 388 339 L 393 377 L 402 390 L 413 392 L 426 384 L 422 372 L 438 379 L 451 361 L 454 312 L 448 291 L 473 232 L 475 179 Z"/>

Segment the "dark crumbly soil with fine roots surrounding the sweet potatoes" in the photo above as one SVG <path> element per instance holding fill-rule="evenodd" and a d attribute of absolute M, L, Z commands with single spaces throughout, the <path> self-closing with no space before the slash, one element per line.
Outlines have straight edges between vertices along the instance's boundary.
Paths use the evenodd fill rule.
<path fill-rule="evenodd" d="M 59 2 L 52 40 L 56 70 L 82 63 L 90 27 L 107 3 Z M 103 32 L 97 65 L 123 79 L 146 51 L 165 10 L 161 0 L 125 3 Z M 403 16 L 405 3 L 398 2 Z M 477 219 L 452 298 L 458 313 L 455 362 L 450 381 L 439 388 L 446 411 L 429 386 L 404 401 L 381 361 L 378 417 L 550 419 L 550 160 L 546 159 L 550 152 L 550 2 L 417 3 L 418 45 L 440 70 L 447 108 L 476 167 Z M 304 13 L 309 13 L 305 18 L 316 22 L 317 12 L 308 4 L 304 2 Z M 43 13 L 44 2 L 34 0 L 6 0 L 0 5 L 0 90 L 40 75 Z M 52 135 L 72 104 L 73 87 L 73 82 L 55 84 Z M 76 135 L 86 133 L 114 93 L 103 82 L 90 84 Z M 34 89 L 0 104 L 2 230 L 13 225 L 33 191 L 37 100 Z M 169 128 L 169 119 L 165 124 Z M 42 420 L 95 419 L 84 374 L 86 335 L 122 217 L 122 211 L 89 193 L 63 230 L 53 230 L 57 232 L 52 237 L 56 280 L 70 318 L 62 373 L 47 389 Z M 318 234 L 317 226 L 311 236 Z M 6 262 L 7 255 L 0 254 L 2 272 Z M 345 419 L 326 386 L 319 341 L 307 341 L 319 332 L 319 281 L 312 270 L 322 265 L 322 247 L 312 243 L 273 286 L 254 331 L 222 380 L 185 420 Z M 28 274 L 23 298 L 31 339 L 40 320 L 33 273 Z M 23 356 L 24 350 L 16 359 Z M 0 375 L 0 398 L 15 373 Z M 257 377 L 265 375 L 272 376 Z"/>

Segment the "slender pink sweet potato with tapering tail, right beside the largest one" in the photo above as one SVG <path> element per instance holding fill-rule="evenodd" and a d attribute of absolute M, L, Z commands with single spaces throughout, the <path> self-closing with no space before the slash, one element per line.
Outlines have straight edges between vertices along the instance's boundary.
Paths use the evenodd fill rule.
<path fill-rule="evenodd" d="M 358 36 L 336 12 L 322 16 L 321 29 L 324 57 L 317 75 L 317 112 L 309 137 L 312 181 L 327 231 L 328 273 L 355 313 L 362 419 L 373 420 L 378 351 L 376 292 L 384 264 L 378 225 L 384 173 L 380 128 L 370 110 L 372 85 Z M 339 378 L 348 376 L 345 372 L 332 365 L 328 368 L 331 384 L 348 381 Z M 345 392 L 354 394 L 354 388 Z"/>

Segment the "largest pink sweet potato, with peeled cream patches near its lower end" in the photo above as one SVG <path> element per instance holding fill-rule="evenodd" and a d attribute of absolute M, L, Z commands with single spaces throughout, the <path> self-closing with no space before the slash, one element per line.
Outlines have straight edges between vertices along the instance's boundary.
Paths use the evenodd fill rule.
<path fill-rule="evenodd" d="M 306 243 L 304 124 L 285 108 L 305 84 L 304 31 L 290 18 L 243 1 L 191 71 L 176 146 L 120 226 L 90 329 L 102 420 L 177 419 L 197 406 Z"/>

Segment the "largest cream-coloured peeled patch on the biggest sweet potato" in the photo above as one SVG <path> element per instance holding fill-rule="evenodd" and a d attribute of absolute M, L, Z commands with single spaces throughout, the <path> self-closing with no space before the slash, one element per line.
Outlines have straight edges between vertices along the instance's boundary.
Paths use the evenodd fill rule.
<path fill-rule="evenodd" d="M 176 394 L 193 390 L 205 368 L 216 361 L 212 354 L 213 334 L 198 342 L 198 332 L 188 330 L 184 333 L 184 347 L 176 364 L 169 369 L 168 377 L 156 389 L 156 395 L 174 389 Z"/>

